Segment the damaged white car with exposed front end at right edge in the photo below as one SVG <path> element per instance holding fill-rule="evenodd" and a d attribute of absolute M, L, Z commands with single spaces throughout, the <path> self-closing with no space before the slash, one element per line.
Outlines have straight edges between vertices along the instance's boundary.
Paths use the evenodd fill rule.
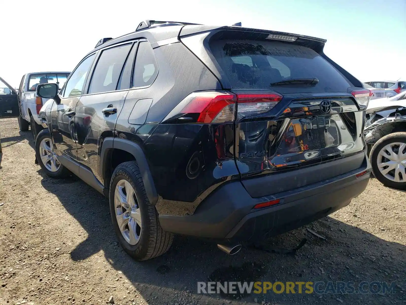
<path fill-rule="evenodd" d="M 406 189 L 406 92 L 380 98 L 367 108 L 365 141 L 376 179 Z"/>

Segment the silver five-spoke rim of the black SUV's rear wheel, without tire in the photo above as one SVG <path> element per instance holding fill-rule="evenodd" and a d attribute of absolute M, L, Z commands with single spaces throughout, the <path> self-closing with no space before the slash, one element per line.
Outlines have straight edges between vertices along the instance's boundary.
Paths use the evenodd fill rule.
<path fill-rule="evenodd" d="M 128 181 L 120 180 L 114 190 L 117 224 L 126 242 L 135 245 L 141 236 L 141 211 L 137 196 Z"/>

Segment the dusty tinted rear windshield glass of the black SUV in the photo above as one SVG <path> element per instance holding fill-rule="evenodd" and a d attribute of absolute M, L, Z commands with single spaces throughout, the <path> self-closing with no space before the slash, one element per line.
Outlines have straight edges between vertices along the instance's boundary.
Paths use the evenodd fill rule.
<path fill-rule="evenodd" d="M 279 41 L 218 40 L 210 44 L 233 88 L 265 88 L 289 92 L 342 92 L 352 84 L 314 50 Z M 316 77 L 319 83 L 271 83 L 292 78 Z"/>

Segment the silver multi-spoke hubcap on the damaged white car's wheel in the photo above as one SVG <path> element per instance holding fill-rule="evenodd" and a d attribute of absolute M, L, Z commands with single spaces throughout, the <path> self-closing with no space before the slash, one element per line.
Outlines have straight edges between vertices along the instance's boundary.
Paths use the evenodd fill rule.
<path fill-rule="evenodd" d="M 377 160 L 378 169 L 388 180 L 406 182 L 406 143 L 390 143 L 384 146 Z"/>

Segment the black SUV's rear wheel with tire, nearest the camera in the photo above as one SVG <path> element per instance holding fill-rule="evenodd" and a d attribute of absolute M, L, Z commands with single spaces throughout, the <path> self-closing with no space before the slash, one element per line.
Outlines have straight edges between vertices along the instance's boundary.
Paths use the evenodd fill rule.
<path fill-rule="evenodd" d="M 162 230 L 135 161 L 119 164 L 110 180 L 110 214 L 124 251 L 143 261 L 164 254 L 173 234 Z"/>

